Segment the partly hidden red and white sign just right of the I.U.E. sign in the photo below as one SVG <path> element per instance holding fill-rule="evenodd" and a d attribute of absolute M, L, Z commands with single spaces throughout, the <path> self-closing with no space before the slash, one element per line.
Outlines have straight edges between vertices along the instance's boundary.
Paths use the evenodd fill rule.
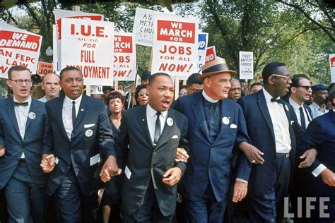
<path fill-rule="evenodd" d="M 134 81 L 136 76 L 136 47 L 131 33 L 114 34 L 114 80 Z"/>

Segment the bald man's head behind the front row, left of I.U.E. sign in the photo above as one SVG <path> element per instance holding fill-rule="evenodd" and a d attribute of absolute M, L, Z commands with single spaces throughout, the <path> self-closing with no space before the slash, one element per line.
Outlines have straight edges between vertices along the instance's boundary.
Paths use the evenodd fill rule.
<path fill-rule="evenodd" d="M 61 90 L 59 80 L 59 76 L 55 73 L 48 73 L 42 78 L 42 89 L 45 90 L 45 97 L 40 99 L 41 102 L 47 102 L 59 96 L 59 90 Z"/>

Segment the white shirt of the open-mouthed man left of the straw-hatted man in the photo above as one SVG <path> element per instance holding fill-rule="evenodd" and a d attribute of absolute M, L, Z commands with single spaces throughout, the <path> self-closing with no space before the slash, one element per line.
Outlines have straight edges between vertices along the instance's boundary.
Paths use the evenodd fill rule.
<path fill-rule="evenodd" d="M 157 111 L 153 109 L 149 104 L 146 105 L 146 120 L 148 121 L 148 128 L 150 133 L 150 138 L 153 141 L 155 138 L 155 126 L 157 120 Z M 167 111 L 161 111 L 159 116 L 160 121 L 160 135 L 163 133 L 163 129 L 165 126 L 165 121 L 167 118 Z"/>

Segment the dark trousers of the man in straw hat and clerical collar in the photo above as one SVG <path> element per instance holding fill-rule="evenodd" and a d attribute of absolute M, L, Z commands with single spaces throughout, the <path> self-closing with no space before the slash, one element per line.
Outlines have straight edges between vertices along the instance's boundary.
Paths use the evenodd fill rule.
<path fill-rule="evenodd" d="M 227 196 L 227 195 L 226 195 Z M 216 200 L 211 183 L 208 183 L 204 198 L 201 200 L 184 200 L 185 222 L 187 223 L 206 223 L 223 222 L 227 199 L 221 202 Z"/>

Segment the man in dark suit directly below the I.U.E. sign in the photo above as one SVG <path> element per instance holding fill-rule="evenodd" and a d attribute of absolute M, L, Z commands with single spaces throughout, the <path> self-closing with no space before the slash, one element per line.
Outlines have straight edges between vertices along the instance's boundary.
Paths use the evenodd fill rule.
<path fill-rule="evenodd" d="M 65 95 L 45 103 L 50 128 L 41 166 L 51 172 L 47 193 L 56 193 L 60 222 L 94 222 L 98 162 L 106 160 L 102 181 L 119 173 L 112 129 L 105 104 L 82 94 L 78 68 L 64 68 L 60 79 Z"/>

